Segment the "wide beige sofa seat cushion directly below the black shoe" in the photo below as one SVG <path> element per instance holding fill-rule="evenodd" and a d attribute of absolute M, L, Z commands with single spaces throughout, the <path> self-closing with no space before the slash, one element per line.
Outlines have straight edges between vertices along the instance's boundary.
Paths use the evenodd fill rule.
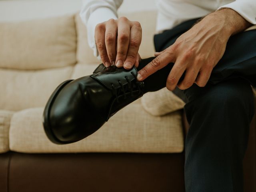
<path fill-rule="evenodd" d="M 14 114 L 10 125 L 10 150 L 26 153 L 50 152 L 182 152 L 180 111 L 154 117 L 132 103 L 94 134 L 73 144 L 51 143 L 42 127 L 43 108 Z"/>

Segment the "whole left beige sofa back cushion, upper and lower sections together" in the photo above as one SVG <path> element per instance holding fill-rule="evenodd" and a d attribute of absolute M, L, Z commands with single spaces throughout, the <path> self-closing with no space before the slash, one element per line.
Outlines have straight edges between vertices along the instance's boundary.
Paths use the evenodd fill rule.
<path fill-rule="evenodd" d="M 0 109 L 45 106 L 74 64 L 74 14 L 0 23 Z"/>

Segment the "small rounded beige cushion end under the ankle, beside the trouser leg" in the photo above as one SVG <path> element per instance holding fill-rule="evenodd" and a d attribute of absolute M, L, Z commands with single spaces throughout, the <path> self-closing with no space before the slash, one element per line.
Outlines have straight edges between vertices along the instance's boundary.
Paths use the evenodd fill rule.
<path fill-rule="evenodd" d="M 167 88 L 144 94 L 141 103 L 144 109 L 154 116 L 161 116 L 182 109 L 185 104 Z"/>

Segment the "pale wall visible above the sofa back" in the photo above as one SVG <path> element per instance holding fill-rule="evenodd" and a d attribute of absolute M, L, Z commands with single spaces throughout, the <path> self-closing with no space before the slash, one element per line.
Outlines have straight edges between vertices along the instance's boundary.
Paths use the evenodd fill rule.
<path fill-rule="evenodd" d="M 81 0 L 0 0 L 0 22 L 46 18 L 80 10 Z M 155 0 L 124 0 L 120 12 L 155 10 Z"/>

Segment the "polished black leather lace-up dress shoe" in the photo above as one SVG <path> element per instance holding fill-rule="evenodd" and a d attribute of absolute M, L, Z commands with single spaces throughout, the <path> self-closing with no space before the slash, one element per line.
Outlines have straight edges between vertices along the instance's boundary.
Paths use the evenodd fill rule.
<path fill-rule="evenodd" d="M 96 132 L 118 110 L 143 95 L 137 70 L 100 64 L 90 76 L 67 80 L 50 96 L 44 130 L 56 144 L 68 144 Z"/>

